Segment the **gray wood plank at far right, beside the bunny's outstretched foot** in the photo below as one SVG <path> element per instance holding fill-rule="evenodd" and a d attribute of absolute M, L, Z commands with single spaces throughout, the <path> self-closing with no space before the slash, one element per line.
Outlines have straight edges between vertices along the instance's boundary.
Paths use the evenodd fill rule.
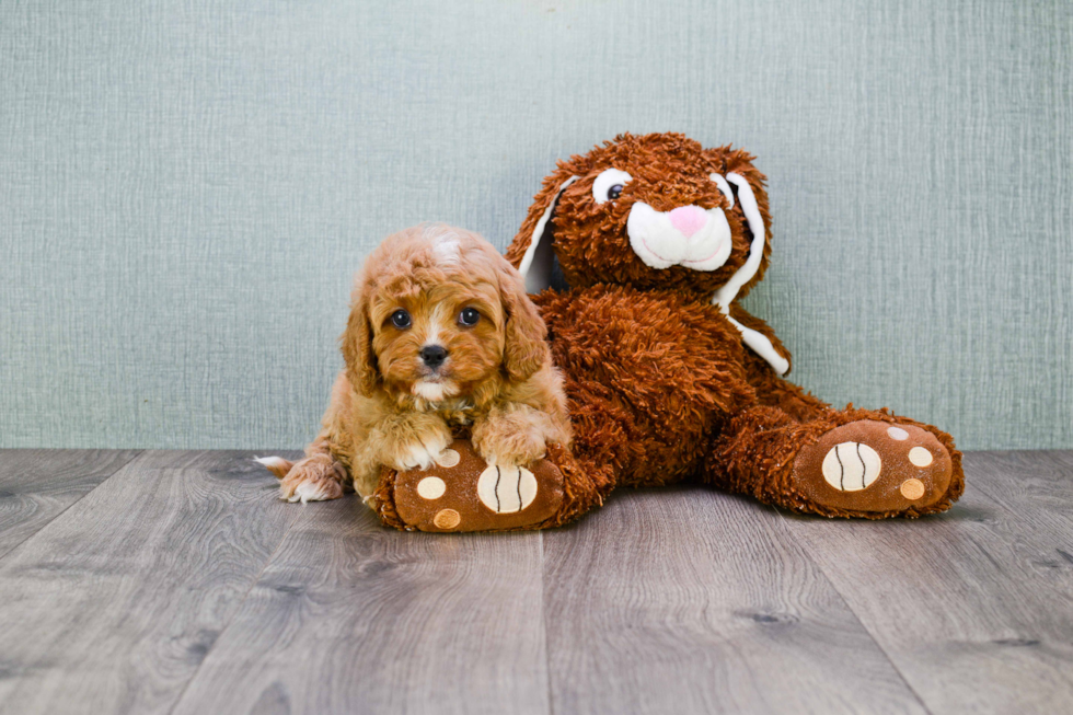
<path fill-rule="evenodd" d="M 1045 454 L 965 463 L 945 515 L 785 520 L 931 711 L 1070 712 L 1073 470 Z"/>

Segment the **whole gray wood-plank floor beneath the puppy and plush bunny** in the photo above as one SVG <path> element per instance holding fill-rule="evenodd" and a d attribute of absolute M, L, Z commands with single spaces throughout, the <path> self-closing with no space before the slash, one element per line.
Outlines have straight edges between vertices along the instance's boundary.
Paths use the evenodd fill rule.
<path fill-rule="evenodd" d="M 968 454 L 916 522 L 673 488 L 470 535 L 251 455 L 0 451 L 0 712 L 1073 712 L 1073 452 Z"/>

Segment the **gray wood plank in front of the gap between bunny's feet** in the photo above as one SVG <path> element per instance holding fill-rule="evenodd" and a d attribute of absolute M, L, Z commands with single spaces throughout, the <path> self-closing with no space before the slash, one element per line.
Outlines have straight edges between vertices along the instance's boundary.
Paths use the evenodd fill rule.
<path fill-rule="evenodd" d="M 924 712 L 772 509 L 616 493 L 544 534 L 556 713 Z"/>

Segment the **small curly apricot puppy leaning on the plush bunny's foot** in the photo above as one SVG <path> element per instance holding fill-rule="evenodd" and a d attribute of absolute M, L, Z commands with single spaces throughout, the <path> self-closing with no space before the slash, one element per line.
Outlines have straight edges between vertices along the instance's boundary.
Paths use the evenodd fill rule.
<path fill-rule="evenodd" d="M 368 503 L 382 465 L 428 469 L 457 427 L 489 464 L 528 464 L 570 441 L 546 333 L 518 272 L 477 234 L 388 237 L 357 276 L 321 433 L 301 461 L 257 461 L 302 503 L 345 488 Z"/>

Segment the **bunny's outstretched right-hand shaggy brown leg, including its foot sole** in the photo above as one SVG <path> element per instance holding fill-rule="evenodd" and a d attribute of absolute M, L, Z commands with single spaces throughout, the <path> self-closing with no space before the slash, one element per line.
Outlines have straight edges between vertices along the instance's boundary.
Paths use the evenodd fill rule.
<path fill-rule="evenodd" d="M 704 481 L 828 517 L 919 517 L 961 495 L 961 453 L 936 427 L 887 411 L 832 410 L 773 376 L 753 383 L 761 404 L 725 424 Z"/>

